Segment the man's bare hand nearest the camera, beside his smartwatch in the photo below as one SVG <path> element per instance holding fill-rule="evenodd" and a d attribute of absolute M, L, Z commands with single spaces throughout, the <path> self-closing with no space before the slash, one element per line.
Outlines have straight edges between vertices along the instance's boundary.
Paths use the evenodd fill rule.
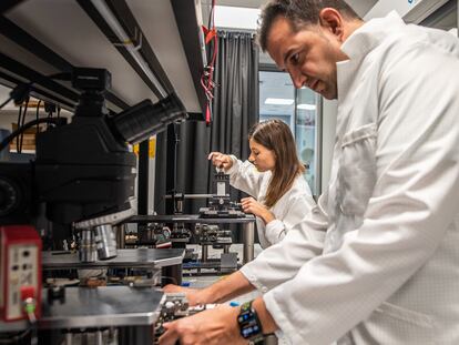
<path fill-rule="evenodd" d="M 246 345 L 237 325 L 238 307 L 226 305 L 164 324 L 160 345 Z"/>

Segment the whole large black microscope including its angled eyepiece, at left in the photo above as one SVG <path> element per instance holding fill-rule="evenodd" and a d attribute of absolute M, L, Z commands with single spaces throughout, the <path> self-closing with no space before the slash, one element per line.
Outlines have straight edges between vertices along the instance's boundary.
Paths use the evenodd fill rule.
<path fill-rule="evenodd" d="M 110 115 L 104 99 L 111 85 L 106 70 L 78 68 L 71 80 L 81 91 L 72 122 L 38 133 L 31 163 L 0 163 L 0 225 L 30 223 L 30 215 L 43 203 L 47 219 L 58 229 L 73 226 L 95 234 L 132 215 L 136 158 L 128 143 L 187 118 L 175 93 Z M 23 187 L 14 189 L 24 185 L 23 179 L 30 181 L 30 195 Z M 21 214 L 27 217 L 18 220 Z M 105 233 L 110 235 L 110 230 Z"/>

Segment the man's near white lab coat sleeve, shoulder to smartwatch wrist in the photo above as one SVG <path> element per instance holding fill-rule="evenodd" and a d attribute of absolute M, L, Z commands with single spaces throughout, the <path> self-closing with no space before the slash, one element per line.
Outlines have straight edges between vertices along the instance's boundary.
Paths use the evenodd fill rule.
<path fill-rule="evenodd" d="M 417 49 L 399 59 L 379 80 L 385 162 L 361 226 L 263 297 L 293 344 L 330 344 L 366 319 L 429 260 L 458 212 L 459 61 Z"/>

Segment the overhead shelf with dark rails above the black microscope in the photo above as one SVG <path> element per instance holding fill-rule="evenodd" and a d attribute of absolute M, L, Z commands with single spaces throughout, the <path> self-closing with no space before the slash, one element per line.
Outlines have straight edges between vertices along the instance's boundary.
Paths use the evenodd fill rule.
<path fill-rule="evenodd" d="M 7 58 L 0 59 L 0 82 L 11 85 L 37 78 L 35 93 L 69 108 L 78 91 L 65 82 L 44 84 L 45 75 L 72 67 L 105 68 L 112 74 L 109 108 L 115 112 L 144 99 L 156 102 L 174 91 L 188 113 L 202 115 L 204 54 L 194 1 L 185 1 L 187 6 L 174 0 L 16 3 L 2 1 L 0 7 L 4 11 L 0 53 Z M 125 38 L 110 20 L 116 21 Z"/>

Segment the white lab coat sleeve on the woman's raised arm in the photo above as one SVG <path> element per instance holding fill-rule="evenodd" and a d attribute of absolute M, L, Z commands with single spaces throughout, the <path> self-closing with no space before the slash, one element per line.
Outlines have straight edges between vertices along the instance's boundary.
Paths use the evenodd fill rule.
<path fill-rule="evenodd" d="M 257 199 L 265 173 L 258 172 L 248 161 L 242 162 L 234 155 L 230 156 L 233 160 L 232 168 L 226 171 L 230 175 L 230 184 Z"/>

